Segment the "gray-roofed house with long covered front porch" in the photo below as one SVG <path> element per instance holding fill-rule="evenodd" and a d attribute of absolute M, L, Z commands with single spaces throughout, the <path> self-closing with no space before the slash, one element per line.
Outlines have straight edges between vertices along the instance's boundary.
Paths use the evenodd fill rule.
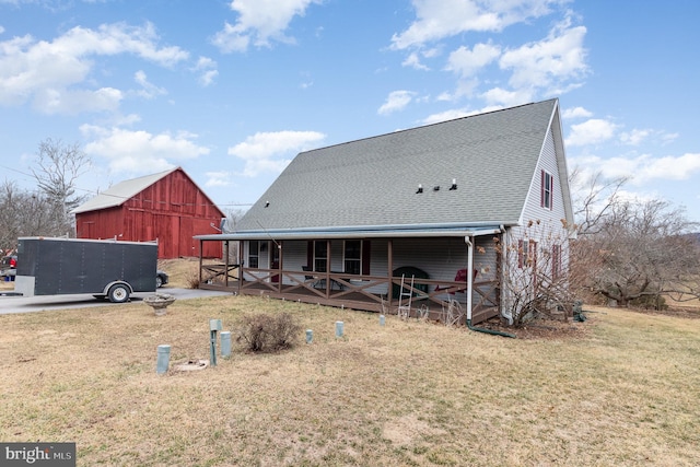
<path fill-rule="evenodd" d="M 573 225 L 558 100 L 300 153 L 235 232 L 197 236 L 242 247 L 242 265 L 202 265 L 201 282 L 375 312 L 410 299 L 434 317 L 456 300 L 476 324 L 509 316 L 501 285 L 532 269 L 533 222 Z M 504 255 L 515 242 L 520 264 Z"/>

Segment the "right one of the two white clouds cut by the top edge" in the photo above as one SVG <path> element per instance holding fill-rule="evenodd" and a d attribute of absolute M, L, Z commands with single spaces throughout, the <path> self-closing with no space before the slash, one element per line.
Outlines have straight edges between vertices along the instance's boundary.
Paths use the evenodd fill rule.
<path fill-rule="evenodd" d="M 406 31 L 394 34 L 392 48 L 421 47 L 469 31 L 500 32 L 504 27 L 542 16 L 561 0 L 412 0 L 417 20 Z"/>

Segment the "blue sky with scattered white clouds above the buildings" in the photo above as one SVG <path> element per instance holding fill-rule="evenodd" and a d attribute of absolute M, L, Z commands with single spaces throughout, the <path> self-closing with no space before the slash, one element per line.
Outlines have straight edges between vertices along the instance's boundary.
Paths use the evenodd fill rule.
<path fill-rule="evenodd" d="M 0 0 L 0 171 L 180 166 L 224 212 L 302 151 L 559 98 L 569 171 L 700 222 L 696 0 Z M 390 174 L 387 182 L 390 183 Z"/>

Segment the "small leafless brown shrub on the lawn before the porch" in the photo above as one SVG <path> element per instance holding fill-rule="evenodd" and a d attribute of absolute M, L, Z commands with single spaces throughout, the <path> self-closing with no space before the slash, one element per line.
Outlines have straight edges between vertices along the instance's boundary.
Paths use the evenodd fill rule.
<path fill-rule="evenodd" d="M 301 326 L 289 313 L 247 315 L 236 341 L 252 352 L 275 352 L 293 347 L 300 332 Z"/>

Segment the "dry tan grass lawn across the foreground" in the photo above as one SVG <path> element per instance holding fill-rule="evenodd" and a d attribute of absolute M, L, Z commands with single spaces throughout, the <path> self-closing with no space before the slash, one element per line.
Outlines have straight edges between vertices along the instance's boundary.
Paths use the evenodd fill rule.
<path fill-rule="evenodd" d="M 155 373 L 161 343 L 208 359 L 210 318 L 283 311 L 312 345 Z M 0 440 L 79 466 L 700 465 L 700 319 L 588 316 L 506 339 L 243 296 L 3 315 Z"/>

